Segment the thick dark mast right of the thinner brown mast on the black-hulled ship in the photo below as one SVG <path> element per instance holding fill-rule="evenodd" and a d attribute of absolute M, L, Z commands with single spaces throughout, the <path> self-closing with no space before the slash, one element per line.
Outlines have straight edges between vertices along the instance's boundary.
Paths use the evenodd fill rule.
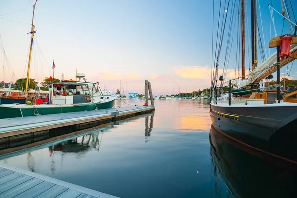
<path fill-rule="evenodd" d="M 258 64 L 258 23 L 257 23 L 257 0 L 251 0 L 251 62 L 252 70 L 257 67 Z"/>

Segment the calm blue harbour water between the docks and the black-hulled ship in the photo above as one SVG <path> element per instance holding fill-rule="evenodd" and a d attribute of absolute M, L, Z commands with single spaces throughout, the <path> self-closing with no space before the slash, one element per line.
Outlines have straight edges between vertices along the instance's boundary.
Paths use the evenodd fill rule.
<path fill-rule="evenodd" d="M 208 100 L 155 105 L 154 115 L 0 156 L 0 163 L 123 198 L 274 197 L 294 190 L 294 171 L 269 165 L 211 131 Z"/>

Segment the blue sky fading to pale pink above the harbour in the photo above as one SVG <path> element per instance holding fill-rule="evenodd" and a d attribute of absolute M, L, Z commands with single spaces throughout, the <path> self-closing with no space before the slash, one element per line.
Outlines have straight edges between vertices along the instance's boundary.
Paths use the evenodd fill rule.
<path fill-rule="evenodd" d="M 9 64 L 3 61 L 0 52 L 0 81 L 3 65 L 6 82 L 26 76 L 27 33 L 31 31 L 34 3 L 0 0 L 0 34 L 9 60 Z M 279 1 L 273 3 L 281 12 Z M 297 10 L 297 2 L 292 3 Z M 267 47 L 270 12 L 267 1 L 260 0 L 260 5 L 268 30 Z M 212 6 L 212 0 L 38 0 L 30 78 L 41 82 L 53 76 L 54 60 L 55 78 L 60 79 L 63 73 L 65 79 L 75 79 L 77 68 L 88 81 L 98 81 L 113 92 L 120 88 L 120 81 L 125 89 L 126 80 L 127 92 L 139 94 L 144 93 L 144 80 L 151 82 L 154 95 L 202 90 L 210 86 Z M 218 7 L 219 0 L 215 0 L 215 24 Z M 274 16 L 280 35 L 282 17 Z M 294 66 L 297 64 L 291 79 L 297 78 Z M 227 77 L 234 76 L 234 68 L 230 63 Z"/>

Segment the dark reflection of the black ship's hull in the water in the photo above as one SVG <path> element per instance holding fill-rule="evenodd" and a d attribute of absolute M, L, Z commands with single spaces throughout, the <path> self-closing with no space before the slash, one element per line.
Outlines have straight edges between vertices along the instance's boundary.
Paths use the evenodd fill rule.
<path fill-rule="evenodd" d="M 210 132 L 210 154 L 231 197 L 293 197 L 297 166 L 278 157 L 249 149 L 217 131 Z"/>

